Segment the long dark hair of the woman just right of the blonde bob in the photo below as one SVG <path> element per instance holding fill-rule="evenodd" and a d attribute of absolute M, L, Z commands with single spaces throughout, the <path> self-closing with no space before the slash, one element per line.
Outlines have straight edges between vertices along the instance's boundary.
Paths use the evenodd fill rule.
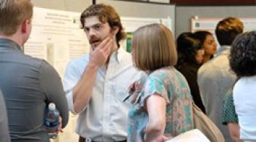
<path fill-rule="evenodd" d="M 202 43 L 198 40 L 194 33 L 181 33 L 177 38 L 178 63 L 177 68 L 182 63 L 197 63 L 195 55 L 198 50 L 203 48 Z"/>

